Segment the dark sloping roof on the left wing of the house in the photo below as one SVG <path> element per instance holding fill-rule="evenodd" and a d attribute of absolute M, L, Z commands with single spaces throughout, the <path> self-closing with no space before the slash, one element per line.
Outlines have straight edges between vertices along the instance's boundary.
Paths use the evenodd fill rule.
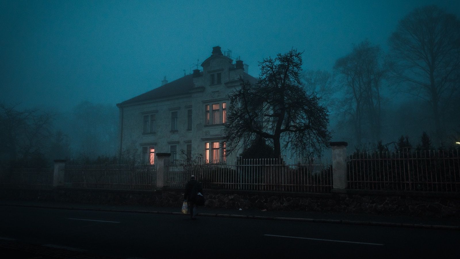
<path fill-rule="evenodd" d="M 132 104 L 132 103 L 137 103 L 137 102 L 143 102 L 143 101 L 155 100 L 155 99 L 168 97 L 168 96 L 185 94 L 185 93 L 188 93 L 194 87 L 195 85 L 193 84 L 193 75 L 190 74 L 190 75 L 181 77 L 177 80 L 174 80 L 173 82 L 169 82 L 165 85 L 162 85 L 158 88 L 155 88 L 147 93 L 144 93 L 136 97 L 133 97 L 129 100 L 123 101 L 117 104 L 117 106 L 124 106 L 127 104 Z"/>

